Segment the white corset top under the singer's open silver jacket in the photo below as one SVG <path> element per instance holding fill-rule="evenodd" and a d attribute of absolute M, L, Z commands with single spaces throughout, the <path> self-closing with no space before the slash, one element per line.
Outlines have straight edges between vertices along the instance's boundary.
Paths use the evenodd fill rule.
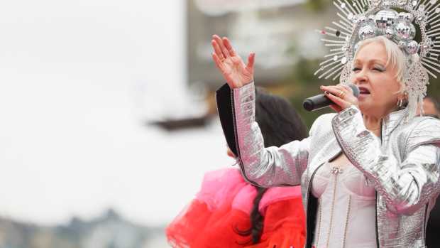
<path fill-rule="evenodd" d="M 316 248 L 376 248 L 375 188 L 351 164 L 325 163 L 312 180 Z"/>

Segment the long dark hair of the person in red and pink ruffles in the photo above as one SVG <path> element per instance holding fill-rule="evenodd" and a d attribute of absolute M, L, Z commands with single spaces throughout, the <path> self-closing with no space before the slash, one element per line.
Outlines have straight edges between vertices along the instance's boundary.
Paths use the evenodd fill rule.
<path fill-rule="evenodd" d="M 264 146 L 282 146 L 290 141 L 301 140 L 307 137 L 307 128 L 301 117 L 292 107 L 287 99 L 270 95 L 261 88 L 257 89 L 255 95 L 255 122 L 260 126 L 263 134 Z M 257 195 L 253 200 L 251 211 L 251 228 L 238 230 L 236 233 L 241 236 L 251 236 L 245 244 L 252 242 L 257 244 L 263 232 L 263 215 L 260 214 L 259 205 L 264 193 L 268 188 L 255 186 Z"/>

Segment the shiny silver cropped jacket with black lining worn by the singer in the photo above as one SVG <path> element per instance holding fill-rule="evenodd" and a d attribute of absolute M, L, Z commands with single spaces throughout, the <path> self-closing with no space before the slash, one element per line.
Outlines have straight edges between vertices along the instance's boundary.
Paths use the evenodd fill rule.
<path fill-rule="evenodd" d="M 317 215 L 312 178 L 341 152 L 375 185 L 378 247 L 425 247 L 426 223 L 440 192 L 439 120 L 416 117 L 405 122 L 407 109 L 402 109 L 383 119 L 378 138 L 365 128 L 361 112 L 350 107 L 321 115 L 307 139 L 264 148 L 255 122 L 253 82 L 233 90 L 224 85 L 216 97 L 226 140 L 246 180 L 263 187 L 301 184 L 307 248 Z"/>

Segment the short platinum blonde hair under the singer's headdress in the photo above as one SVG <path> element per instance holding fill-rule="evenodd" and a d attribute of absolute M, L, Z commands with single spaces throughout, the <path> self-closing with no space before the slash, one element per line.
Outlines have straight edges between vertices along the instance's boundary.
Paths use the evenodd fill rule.
<path fill-rule="evenodd" d="M 368 38 L 368 39 L 361 41 L 361 43 L 359 43 L 359 47 L 356 50 L 354 58 L 356 58 L 356 56 L 358 55 L 358 52 L 365 45 L 368 45 L 370 43 L 375 43 L 375 42 L 382 43 L 383 45 L 385 45 L 385 50 L 387 52 L 387 63 L 385 66 L 387 67 L 388 65 L 390 65 L 396 69 L 395 77 L 396 77 L 397 81 L 400 82 L 401 89 L 402 89 L 400 92 L 404 92 L 405 91 L 404 78 L 405 78 L 405 72 L 407 70 L 407 65 L 406 65 L 407 55 L 405 55 L 405 53 L 399 48 L 399 45 L 390 41 L 385 36 L 376 36 L 373 38 Z M 413 59 L 413 61 L 419 60 L 419 55 L 417 55 L 417 53 L 415 55 L 412 55 L 412 59 Z M 353 60 L 353 63 L 354 63 L 354 60 Z"/>

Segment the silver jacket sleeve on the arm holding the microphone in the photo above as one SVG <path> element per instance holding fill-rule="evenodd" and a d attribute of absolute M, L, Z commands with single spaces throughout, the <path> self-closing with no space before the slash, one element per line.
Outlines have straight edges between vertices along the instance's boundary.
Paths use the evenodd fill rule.
<path fill-rule="evenodd" d="M 391 212 L 411 215 L 439 193 L 438 120 L 409 125 L 390 147 L 382 147 L 381 140 L 365 128 L 356 107 L 336 115 L 332 126 L 348 159 L 373 180 Z M 393 155 L 393 149 L 400 156 Z"/>

